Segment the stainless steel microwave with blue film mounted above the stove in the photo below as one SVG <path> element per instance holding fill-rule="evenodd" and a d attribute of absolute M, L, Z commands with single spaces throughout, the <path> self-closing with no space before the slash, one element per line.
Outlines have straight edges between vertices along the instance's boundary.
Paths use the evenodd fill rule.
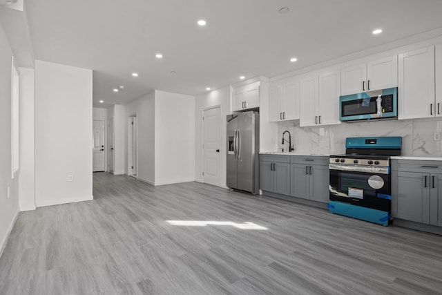
<path fill-rule="evenodd" d="M 341 121 L 374 120 L 398 116 L 398 88 L 339 97 Z"/>

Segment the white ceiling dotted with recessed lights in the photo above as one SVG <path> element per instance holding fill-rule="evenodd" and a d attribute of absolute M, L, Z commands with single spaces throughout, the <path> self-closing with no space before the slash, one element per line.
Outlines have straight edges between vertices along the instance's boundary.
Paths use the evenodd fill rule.
<path fill-rule="evenodd" d="M 198 95 L 442 28 L 441 0 L 25 0 L 25 10 L 35 59 L 93 69 L 94 106 L 153 89 Z"/>

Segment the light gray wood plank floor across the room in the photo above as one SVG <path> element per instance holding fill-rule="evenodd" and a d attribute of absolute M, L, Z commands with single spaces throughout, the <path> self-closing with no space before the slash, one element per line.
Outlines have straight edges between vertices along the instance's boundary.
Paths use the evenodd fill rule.
<path fill-rule="evenodd" d="M 442 236 L 198 182 L 95 173 L 93 194 L 19 214 L 0 294 L 442 293 Z"/>

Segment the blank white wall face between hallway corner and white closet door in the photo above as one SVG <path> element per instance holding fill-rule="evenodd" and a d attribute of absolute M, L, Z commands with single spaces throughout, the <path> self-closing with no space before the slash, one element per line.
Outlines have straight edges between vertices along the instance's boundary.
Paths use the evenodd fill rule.
<path fill-rule="evenodd" d="M 155 185 L 195 180 L 195 97 L 155 91 Z"/>

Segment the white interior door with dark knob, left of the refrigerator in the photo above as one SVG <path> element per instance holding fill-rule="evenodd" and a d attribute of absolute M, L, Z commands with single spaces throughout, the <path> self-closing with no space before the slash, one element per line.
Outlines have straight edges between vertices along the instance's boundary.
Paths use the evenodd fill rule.
<path fill-rule="evenodd" d="M 203 174 L 202 182 L 220 185 L 220 107 L 203 111 Z"/>

